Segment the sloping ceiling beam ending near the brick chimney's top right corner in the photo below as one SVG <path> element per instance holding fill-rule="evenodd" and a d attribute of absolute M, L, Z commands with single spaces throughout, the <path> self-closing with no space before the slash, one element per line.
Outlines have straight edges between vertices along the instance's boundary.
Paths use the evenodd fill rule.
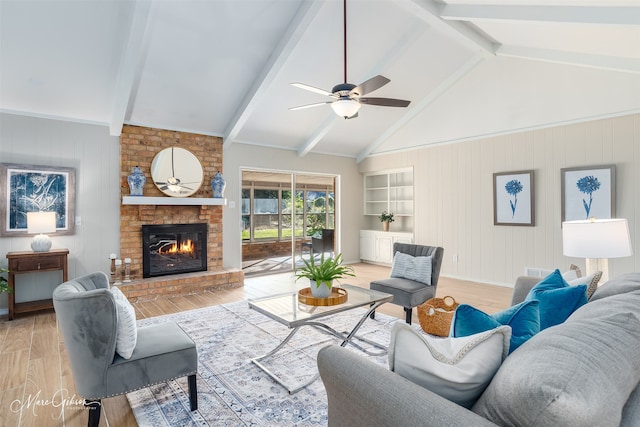
<path fill-rule="evenodd" d="M 242 130 L 243 126 L 249 120 L 249 116 L 256 108 L 258 100 L 264 96 L 269 85 L 273 82 L 278 75 L 282 67 L 284 67 L 287 59 L 293 52 L 302 35 L 309 27 L 311 21 L 316 17 L 320 8 L 324 5 L 324 2 L 318 1 L 303 1 L 300 3 L 296 15 L 293 17 L 287 30 L 280 38 L 278 45 L 275 47 L 267 63 L 264 65 L 260 74 L 253 82 L 253 85 L 246 93 L 244 99 L 240 103 L 240 106 L 236 110 L 233 118 L 230 121 L 229 126 L 225 130 L 223 137 L 223 147 L 227 148 L 238 137 L 238 134 Z"/>

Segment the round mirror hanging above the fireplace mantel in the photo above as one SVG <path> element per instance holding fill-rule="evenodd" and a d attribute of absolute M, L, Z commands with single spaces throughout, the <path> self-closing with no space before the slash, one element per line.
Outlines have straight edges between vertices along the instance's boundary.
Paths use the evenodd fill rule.
<path fill-rule="evenodd" d="M 203 180 L 202 165 L 192 152 L 184 148 L 165 148 L 151 162 L 153 182 L 167 196 L 189 197 Z"/>

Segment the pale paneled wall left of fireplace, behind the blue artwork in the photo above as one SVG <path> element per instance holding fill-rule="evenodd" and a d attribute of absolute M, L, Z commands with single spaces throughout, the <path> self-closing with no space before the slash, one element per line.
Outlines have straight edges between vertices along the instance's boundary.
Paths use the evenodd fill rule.
<path fill-rule="evenodd" d="M 107 126 L 0 114 L 0 162 L 75 168 L 75 215 L 82 222 L 73 235 L 52 237 L 53 248 L 69 249 L 69 278 L 108 272 L 109 254 L 120 247 L 119 146 Z M 31 237 L 0 237 L 0 265 L 6 267 L 7 252 L 30 251 L 30 243 Z M 16 300 L 50 298 L 61 276 L 18 275 Z M 6 307 L 0 295 L 0 309 Z"/>

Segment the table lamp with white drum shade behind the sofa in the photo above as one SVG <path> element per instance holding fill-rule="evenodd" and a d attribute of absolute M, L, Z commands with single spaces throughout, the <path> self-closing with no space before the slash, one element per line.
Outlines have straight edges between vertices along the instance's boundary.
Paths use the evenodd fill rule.
<path fill-rule="evenodd" d="M 609 280 L 609 258 L 633 255 L 626 219 L 588 219 L 562 223 L 562 252 L 586 258 L 587 275 L 602 271 L 601 281 Z"/>

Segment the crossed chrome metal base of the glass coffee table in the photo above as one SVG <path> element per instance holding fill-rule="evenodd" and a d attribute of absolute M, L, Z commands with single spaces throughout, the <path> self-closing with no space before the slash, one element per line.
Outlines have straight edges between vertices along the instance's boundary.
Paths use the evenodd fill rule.
<path fill-rule="evenodd" d="M 359 338 L 356 336 L 356 332 L 358 332 L 358 329 L 360 329 L 360 327 L 362 326 L 362 324 L 365 322 L 365 320 L 367 320 L 367 318 L 369 317 L 369 315 L 371 313 L 373 313 L 378 307 L 380 307 L 382 304 L 384 304 L 386 301 L 380 301 L 377 303 L 374 303 L 370 308 L 369 311 L 367 311 L 364 316 L 362 316 L 362 318 L 358 321 L 358 323 L 356 323 L 356 325 L 353 327 L 353 329 L 351 329 L 351 332 L 338 332 L 335 329 L 333 329 L 332 327 L 321 323 L 321 322 L 317 322 L 317 321 L 308 321 L 303 323 L 300 326 L 297 326 L 295 328 L 293 328 L 291 330 L 291 332 L 289 333 L 289 335 L 286 336 L 286 338 L 284 340 L 282 340 L 282 342 L 280 344 L 278 344 L 273 350 L 271 350 L 269 353 L 264 354 L 262 356 L 258 356 L 254 359 L 251 359 L 251 362 L 253 362 L 257 367 L 259 367 L 260 369 L 262 369 L 266 374 L 268 374 L 271 378 L 273 378 L 276 382 L 278 382 L 278 384 L 280 384 L 281 386 L 283 386 L 284 388 L 287 389 L 287 391 L 289 392 L 289 394 L 294 394 L 300 390 L 302 390 L 303 388 L 307 387 L 309 384 L 313 383 L 315 380 L 318 379 L 318 377 L 320 376 L 320 374 L 316 373 L 311 379 L 309 379 L 308 381 L 296 384 L 296 385 L 288 385 L 286 384 L 280 377 L 278 377 L 278 375 L 276 375 L 275 373 L 273 373 L 267 366 L 265 366 L 264 364 L 262 364 L 262 360 L 267 359 L 271 356 L 273 356 L 274 354 L 276 354 L 278 351 L 280 351 L 280 349 L 282 349 L 282 347 L 284 347 L 289 340 L 291 340 L 291 338 L 296 334 L 296 332 L 298 332 L 298 330 L 300 330 L 300 328 L 304 327 L 304 326 L 312 326 L 315 327 L 319 330 L 321 330 L 322 332 L 328 333 L 330 335 L 335 336 L 338 339 L 342 340 L 342 343 L 340 344 L 340 347 L 344 347 L 347 344 L 351 344 L 353 346 L 355 346 L 357 349 L 359 349 L 360 351 L 363 351 L 369 355 L 372 356 L 376 356 L 376 355 L 381 355 L 386 353 L 387 349 L 384 346 L 381 346 L 380 344 L 373 342 L 373 341 L 369 341 L 369 340 L 365 340 L 363 338 Z M 363 348 L 362 346 L 356 344 L 355 342 L 353 342 L 353 339 L 358 339 L 361 340 L 363 342 L 366 342 L 368 344 L 371 344 L 375 347 L 378 347 L 380 349 L 382 349 L 383 351 L 378 352 L 378 353 L 373 353 L 365 348 Z"/>

